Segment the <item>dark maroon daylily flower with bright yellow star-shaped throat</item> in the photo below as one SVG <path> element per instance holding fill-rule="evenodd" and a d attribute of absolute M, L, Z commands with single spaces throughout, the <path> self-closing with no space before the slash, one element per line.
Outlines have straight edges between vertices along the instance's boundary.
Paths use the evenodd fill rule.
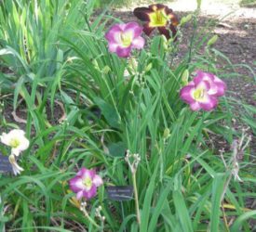
<path fill-rule="evenodd" d="M 170 38 L 169 30 L 172 32 L 172 36 L 175 36 L 177 32 L 176 26 L 179 21 L 168 6 L 154 4 L 148 7 L 137 7 L 134 9 L 133 14 L 141 21 L 146 22 L 143 25 L 143 32 L 147 35 L 150 35 L 155 28 L 161 34 L 164 34 L 167 39 Z"/>

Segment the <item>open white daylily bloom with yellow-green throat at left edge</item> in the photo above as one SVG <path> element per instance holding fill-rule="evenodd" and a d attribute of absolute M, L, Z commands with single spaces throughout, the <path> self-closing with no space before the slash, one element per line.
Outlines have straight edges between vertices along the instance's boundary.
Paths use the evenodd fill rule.
<path fill-rule="evenodd" d="M 8 134 L 3 133 L 0 136 L 3 144 L 11 147 L 11 154 L 20 155 L 20 151 L 29 147 L 29 140 L 25 137 L 25 132 L 19 129 L 11 130 Z"/>

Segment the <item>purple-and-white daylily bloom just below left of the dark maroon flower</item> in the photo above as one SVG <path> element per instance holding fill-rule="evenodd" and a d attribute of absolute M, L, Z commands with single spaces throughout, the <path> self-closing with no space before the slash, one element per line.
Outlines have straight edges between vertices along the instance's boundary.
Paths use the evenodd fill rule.
<path fill-rule="evenodd" d="M 142 30 L 137 22 L 115 24 L 105 34 L 109 51 L 115 52 L 120 58 L 128 58 L 132 48 L 143 48 L 145 40 L 141 37 Z"/>

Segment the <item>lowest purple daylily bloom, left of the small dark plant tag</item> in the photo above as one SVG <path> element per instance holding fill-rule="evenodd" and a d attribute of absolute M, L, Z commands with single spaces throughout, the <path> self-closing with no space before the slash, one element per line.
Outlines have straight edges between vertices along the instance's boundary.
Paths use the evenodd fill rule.
<path fill-rule="evenodd" d="M 69 182 L 70 188 L 76 193 L 76 199 L 83 197 L 89 200 L 95 197 L 97 187 L 103 184 L 101 176 L 96 174 L 95 170 L 81 168 L 80 171 Z"/>

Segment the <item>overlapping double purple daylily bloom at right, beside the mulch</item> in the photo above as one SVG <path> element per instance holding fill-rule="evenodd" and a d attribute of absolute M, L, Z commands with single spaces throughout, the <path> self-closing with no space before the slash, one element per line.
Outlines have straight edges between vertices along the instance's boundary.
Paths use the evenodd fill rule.
<path fill-rule="evenodd" d="M 191 110 L 213 110 L 218 105 L 218 97 L 222 97 L 226 84 L 212 73 L 197 71 L 192 82 L 180 91 L 182 100 L 190 105 Z"/>

